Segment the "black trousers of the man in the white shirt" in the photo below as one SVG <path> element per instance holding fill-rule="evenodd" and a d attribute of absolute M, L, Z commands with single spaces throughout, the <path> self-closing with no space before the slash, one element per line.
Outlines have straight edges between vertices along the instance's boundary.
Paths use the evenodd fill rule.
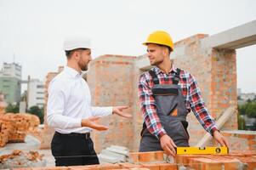
<path fill-rule="evenodd" d="M 56 166 L 100 164 L 94 143 L 88 135 L 54 133 L 51 143 Z"/>

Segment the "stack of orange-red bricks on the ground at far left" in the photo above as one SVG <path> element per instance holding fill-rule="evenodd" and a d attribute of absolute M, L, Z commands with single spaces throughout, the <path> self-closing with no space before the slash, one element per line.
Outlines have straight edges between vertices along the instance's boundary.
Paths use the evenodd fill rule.
<path fill-rule="evenodd" d="M 6 113 L 0 117 L 0 147 L 8 142 L 24 142 L 26 134 L 33 131 L 40 121 L 26 113 Z"/>

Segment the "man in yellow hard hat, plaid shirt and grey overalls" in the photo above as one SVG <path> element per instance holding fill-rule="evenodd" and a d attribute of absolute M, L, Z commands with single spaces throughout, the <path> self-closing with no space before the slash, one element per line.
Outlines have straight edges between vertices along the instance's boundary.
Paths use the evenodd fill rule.
<path fill-rule="evenodd" d="M 186 116 L 191 110 L 202 127 L 227 146 L 202 100 L 195 77 L 172 64 L 169 55 L 174 42 L 168 32 L 154 31 L 143 44 L 154 67 L 139 77 L 139 105 L 144 117 L 139 151 L 165 150 L 175 156 L 177 146 L 189 146 Z"/>

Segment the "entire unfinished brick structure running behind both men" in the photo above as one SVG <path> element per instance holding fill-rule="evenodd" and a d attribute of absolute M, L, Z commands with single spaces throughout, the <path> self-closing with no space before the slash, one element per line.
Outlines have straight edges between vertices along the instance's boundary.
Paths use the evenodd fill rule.
<path fill-rule="evenodd" d="M 202 45 L 204 37 L 208 35 L 197 34 L 176 42 L 171 59 L 177 67 L 191 72 L 196 77 L 208 111 L 218 120 L 230 105 L 236 105 L 237 102 L 236 51 L 203 48 L 205 47 Z M 128 112 L 133 115 L 130 120 L 115 115 L 103 118 L 100 123 L 110 129 L 105 132 L 94 131 L 93 138 L 97 151 L 111 144 L 126 146 L 131 151 L 137 151 L 139 148 L 142 116 L 139 111 L 137 84 L 139 75 L 143 71 L 136 65 L 138 59 L 108 54 L 94 59 L 90 64 L 87 81 L 92 94 L 92 104 L 95 106 L 129 105 L 131 107 Z M 51 78 L 47 79 L 49 81 Z M 190 123 L 190 144 L 195 145 L 205 131 L 192 112 L 187 120 Z M 45 128 L 48 129 L 47 126 Z M 222 129 L 237 129 L 236 112 Z M 46 130 L 48 137 L 51 133 Z"/>

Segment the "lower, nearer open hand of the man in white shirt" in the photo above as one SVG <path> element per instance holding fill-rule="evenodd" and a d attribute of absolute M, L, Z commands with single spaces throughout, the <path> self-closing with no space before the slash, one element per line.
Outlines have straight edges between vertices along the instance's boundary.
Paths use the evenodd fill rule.
<path fill-rule="evenodd" d="M 100 125 L 97 123 L 97 121 L 100 119 L 99 116 L 90 116 L 86 119 L 82 119 L 81 126 L 82 127 L 91 127 L 95 130 L 104 131 L 107 130 L 108 127 L 105 127 L 103 125 Z"/>

